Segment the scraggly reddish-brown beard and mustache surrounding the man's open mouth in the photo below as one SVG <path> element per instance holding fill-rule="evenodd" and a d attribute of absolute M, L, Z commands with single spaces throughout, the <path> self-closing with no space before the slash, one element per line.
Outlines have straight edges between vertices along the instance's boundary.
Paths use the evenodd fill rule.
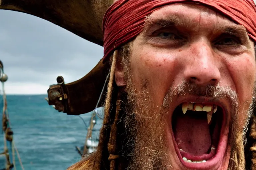
<path fill-rule="evenodd" d="M 125 68 L 129 68 L 126 66 Z M 172 169 L 170 153 L 165 136 L 166 119 L 169 114 L 169 106 L 174 98 L 190 94 L 210 97 L 213 100 L 226 99 L 230 103 L 231 121 L 229 123 L 228 145 L 231 147 L 231 157 L 228 169 L 245 169 L 244 145 L 246 143 L 246 131 L 253 113 L 254 96 L 248 95 L 248 102 L 241 108 L 238 96 L 230 87 L 221 87 L 218 84 L 205 87 L 198 86 L 193 82 L 183 80 L 176 87 L 171 87 L 166 92 L 161 106 L 154 106 L 154 99 L 150 96 L 148 85 L 150 82 L 142 80 L 142 86 L 138 91 L 135 87 L 131 71 L 126 71 L 126 96 L 124 100 L 126 118 L 124 120 L 128 143 L 127 150 L 130 152 L 127 169 L 145 170 Z M 156 109 L 157 108 L 157 109 Z M 238 115 L 245 115 L 239 121 Z"/>

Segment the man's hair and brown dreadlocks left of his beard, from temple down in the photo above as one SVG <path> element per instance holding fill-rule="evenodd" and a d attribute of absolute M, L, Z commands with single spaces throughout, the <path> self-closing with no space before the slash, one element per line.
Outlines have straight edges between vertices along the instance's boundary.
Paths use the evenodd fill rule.
<path fill-rule="evenodd" d="M 123 99 L 125 95 L 121 93 L 114 81 L 116 63 L 128 58 L 132 42 L 120 47 L 110 58 L 110 78 L 108 82 L 107 95 L 105 100 L 105 116 L 103 126 L 100 130 L 99 145 L 97 151 L 83 156 L 83 159 L 72 165 L 68 170 L 115 170 L 125 169 L 128 166 L 127 158 L 123 157 L 122 144 L 126 142 L 123 134 L 125 131 L 123 122 L 125 115 L 123 112 Z M 122 63 L 122 65 L 124 65 Z M 122 135 L 123 134 L 123 135 Z M 117 137 L 118 136 L 118 137 Z"/>

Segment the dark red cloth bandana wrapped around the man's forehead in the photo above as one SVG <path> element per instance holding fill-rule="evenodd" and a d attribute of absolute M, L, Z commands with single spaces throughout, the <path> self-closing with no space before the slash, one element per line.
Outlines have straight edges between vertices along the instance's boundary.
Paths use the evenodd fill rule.
<path fill-rule="evenodd" d="M 103 18 L 104 57 L 109 59 L 115 49 L 137 37 L 144 28 L 146 16 L 169 4 L 187 0 L 119 0 Z M 256 42 L 256 7 L 253 0 L 190 0 L 215 8 L 243 25 Z"/>

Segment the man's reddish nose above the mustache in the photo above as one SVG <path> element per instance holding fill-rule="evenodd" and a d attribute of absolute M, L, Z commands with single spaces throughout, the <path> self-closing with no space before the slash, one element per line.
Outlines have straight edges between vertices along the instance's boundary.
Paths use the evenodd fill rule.
<path fill-rule="evenodd" d="M 221 75 L 216 66 L 211 44 L 202 40 L 190 46 L 190 56 L 185 65 L 184 78 L 200 86 L 215 85 Z"/>

